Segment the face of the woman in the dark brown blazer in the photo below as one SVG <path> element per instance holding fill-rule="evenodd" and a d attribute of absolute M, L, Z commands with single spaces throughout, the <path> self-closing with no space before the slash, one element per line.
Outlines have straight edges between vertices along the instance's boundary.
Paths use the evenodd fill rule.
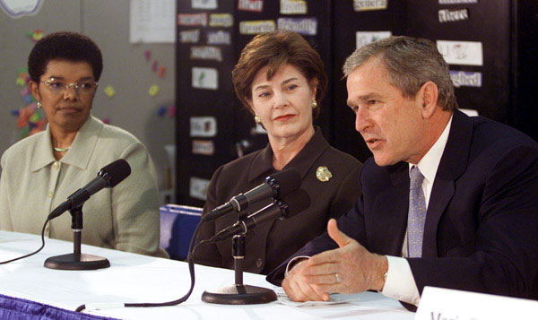
<path fill-rule="evenodd" d="M 282 65 L 267 79 L 267 66 L 252 82 L 251 107 L 273 139 L 296 139 L 312 129 L 312 101 L 317 82 L 307 78 L 293 65 Z"/>

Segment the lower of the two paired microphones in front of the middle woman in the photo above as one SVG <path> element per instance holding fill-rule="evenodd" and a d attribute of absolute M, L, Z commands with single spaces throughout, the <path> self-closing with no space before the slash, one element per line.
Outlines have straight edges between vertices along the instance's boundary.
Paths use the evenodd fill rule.
<path fill-rule="evenodd" d="M 303 212 L 310 206 L 310 197 L 303 189 L 299 189 L 289 195 L 286 202 L 287 203 L 283 203 L 279 200 L 273 200 L 273 203 L 270 203 L 259 211 L 252 213 L 247 217 L 247 219 L 237 221 L 230 227 L 222 229 L 212 238 L 210 238 L 209 242 L 220 242 L 239 233 L 247 233 L 249 230 L 256 229 L 257 225 L 260 225 L 266 221 L 290 218 L 299 212 Z"/>

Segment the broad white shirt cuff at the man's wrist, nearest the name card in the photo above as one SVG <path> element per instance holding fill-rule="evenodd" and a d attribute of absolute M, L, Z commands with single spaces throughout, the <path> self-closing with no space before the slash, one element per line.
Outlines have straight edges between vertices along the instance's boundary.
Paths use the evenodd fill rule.
<path fill-rule="evenodd" d="M 421 295 L 407 260 L 390 255 L 386 255 L 386 260 L 388 261 L 388 272 L 381 293 L 388 298 L 395 298 L 418 306 L 421 302 Z"/>

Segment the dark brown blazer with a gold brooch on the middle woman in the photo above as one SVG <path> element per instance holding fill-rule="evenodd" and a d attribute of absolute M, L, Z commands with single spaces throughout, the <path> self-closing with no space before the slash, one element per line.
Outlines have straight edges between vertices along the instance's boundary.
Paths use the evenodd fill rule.
<path fill-rule="evenodd" d="M 330 180 L 323 182 L 317 179 L 316 171 L 320 166 L 325 166 L 332 173 Z M 244 262 L 247 272 L 266 274 L 273 270 L 309 240 L 322 234 L 329 219 L 339 218 L 348 212 L 360 195 L 357 183 L 361 168 L 359 160 L 331 147 L 319 128 L 295 158 L 284 167 L 289 168 L 299 171 L 300 188 L 308 194 L 310 206 L 289 219 L 267 222 L 258 226 L 253 233 L 247 234 Z M 229 201 L 232 196 L 262 184 L 265 177 L 274 172 L 276 171 L 273 169 L 273 151 L 270 145 L 223 165 L 213 174 L 203 214 Z M 268 203 L 270 202 L 252 205 L 247 212 L 256 212 Z M 231 213 L 216 221 L 205 222 L 200 227 L 197 241 L 211 238 L 237 220 L 237 214 Z M 218 245 L 199 246 L 195 261 L 199 264 L 233 268 L 231 240 Z"/>

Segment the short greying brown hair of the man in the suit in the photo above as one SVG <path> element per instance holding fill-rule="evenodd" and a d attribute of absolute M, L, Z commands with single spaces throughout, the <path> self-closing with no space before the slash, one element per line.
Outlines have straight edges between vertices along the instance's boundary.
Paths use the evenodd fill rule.
<path fill-rule="evenodd" d="M 414 98 L 422 84 L 430 81 L 438 86 L 438 105 L 444 110 L 457 108 L 447 62 L 430 40 L 398 36 L 364 45 L 345 60 L 344 77 L 371 57 L 381 60 L 386 67 L 388 81 L 403 91 L 404 97 Z"/>

